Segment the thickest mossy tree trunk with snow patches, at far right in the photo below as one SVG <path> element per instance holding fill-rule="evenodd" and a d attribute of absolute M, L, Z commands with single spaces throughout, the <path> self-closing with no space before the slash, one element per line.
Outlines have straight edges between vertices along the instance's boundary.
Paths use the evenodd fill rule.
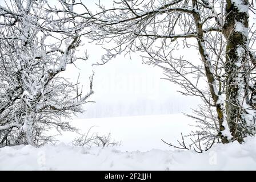
<path fill-rule="evenodd" d="M 226 0 L 226 19 L 223 34 L 226 45 L 226 117 L 233 140 L 254 133 L 255 110 L 248 110 L 249 53 L 248 19 L 249 5 L 246 0 Z"/>

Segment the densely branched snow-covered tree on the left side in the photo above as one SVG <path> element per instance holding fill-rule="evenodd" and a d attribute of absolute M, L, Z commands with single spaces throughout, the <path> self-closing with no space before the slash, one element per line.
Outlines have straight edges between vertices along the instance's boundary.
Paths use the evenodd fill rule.
<path fill-rule="evenodd" d="M 75 130 L 64 117 L 82 112 L 93 94 L 63 78 L 78 59 L 76 27 L 50 9 L 47 1 L 15 0 L 0 5 L 0 147 L 41 146 L 47 131 Z"/>

